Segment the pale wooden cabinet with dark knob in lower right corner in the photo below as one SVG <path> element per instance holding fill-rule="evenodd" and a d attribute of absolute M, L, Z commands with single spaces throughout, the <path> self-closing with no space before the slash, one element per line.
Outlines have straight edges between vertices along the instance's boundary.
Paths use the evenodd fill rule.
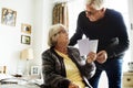
<path fill-rule="evenodd" d="M 123 88 L 133 88 L 133 73 L 123 73 Z"/>

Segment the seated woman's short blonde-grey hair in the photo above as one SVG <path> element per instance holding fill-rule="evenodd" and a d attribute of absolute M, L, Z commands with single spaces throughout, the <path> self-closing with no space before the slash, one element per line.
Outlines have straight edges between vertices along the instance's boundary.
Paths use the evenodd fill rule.
<path fill-rule="evenodd" d="M 54 24 L 50 28 L 48 36 L 48 45 L 50 47 L 55 46 L 58 34 L 61 30 L 65 30 L 65 26 L 63 24 Z"/>

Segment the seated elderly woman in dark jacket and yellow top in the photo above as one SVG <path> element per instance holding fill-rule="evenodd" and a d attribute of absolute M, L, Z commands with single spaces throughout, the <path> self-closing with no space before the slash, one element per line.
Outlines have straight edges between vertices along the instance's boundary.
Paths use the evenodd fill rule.
<path fill-rule="evenodd" d="M 50 48 L 42 53 L 44 85 L 48 88 L 92 88 L 88 80 L 95 73 L 96 54 L 91 52 L 85 59 L 78 48 L 68 46 L 69 35 L 62 24 L 51 26 L 48 44 Z"/>

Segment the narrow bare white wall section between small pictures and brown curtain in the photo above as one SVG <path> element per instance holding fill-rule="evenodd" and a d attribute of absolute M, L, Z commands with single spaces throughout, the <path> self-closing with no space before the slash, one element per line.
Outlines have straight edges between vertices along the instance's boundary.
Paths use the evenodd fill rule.
<path fill-rule="evenodd" d="M 48 31 L 52 23 L 52 0 L 35 0 L 34 6 L 34 32 L 33 32 L 33 48 L 34 61 L 33 65 L 41 65 L 41 54 L 48 48 Z"/>

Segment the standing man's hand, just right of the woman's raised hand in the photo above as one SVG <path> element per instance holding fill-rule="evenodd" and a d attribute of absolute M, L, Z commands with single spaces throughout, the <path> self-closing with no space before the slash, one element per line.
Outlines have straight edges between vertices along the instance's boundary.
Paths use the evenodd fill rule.
<path fill-rule="evenodd" d="M 101 51 L 98 53 L 96 62 L 99 62 L 100 64 L 103 64 L 105 63 L 106 58 L 108 58 L 108 53 L 105 51 Z"/>

